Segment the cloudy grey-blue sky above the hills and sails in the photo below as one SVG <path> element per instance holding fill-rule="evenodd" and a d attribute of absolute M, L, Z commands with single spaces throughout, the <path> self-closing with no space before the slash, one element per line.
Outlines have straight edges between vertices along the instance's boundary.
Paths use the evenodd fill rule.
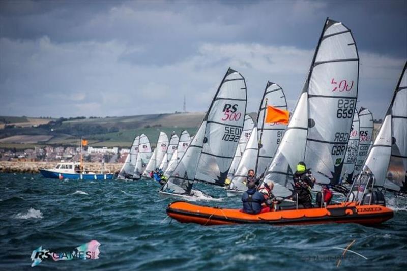
<path fill-rule="evenodd" d="M 228 67 L 255 112 L 290 110 L 326 17 L 355 37 L 358 107 L 383 118 L 407 59 L 407 1 L 0 1 L 0 115 L 206 111 Z"/>

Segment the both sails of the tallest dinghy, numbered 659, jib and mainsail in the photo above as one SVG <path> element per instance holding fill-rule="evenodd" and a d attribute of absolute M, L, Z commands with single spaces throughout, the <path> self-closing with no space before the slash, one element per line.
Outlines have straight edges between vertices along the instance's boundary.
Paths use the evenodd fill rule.
<path fill-rule="evenodd" d="M 266 173 L 273 194 L 292 194 L 304 161 L 319 184 L 339 183 L 358 94 L 359 56 L 351 30 L 326 20 L 303 91 Z"/>

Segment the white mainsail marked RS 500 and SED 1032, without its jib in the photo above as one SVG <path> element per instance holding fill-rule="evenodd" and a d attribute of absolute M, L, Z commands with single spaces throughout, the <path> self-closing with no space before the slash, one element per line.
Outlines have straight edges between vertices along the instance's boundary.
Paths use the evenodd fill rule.
<path fill-rule="evenodd" d="M 207 126 L 195 179 L 223 186 L 243 130 L 246 82 L 229 69 L 205 117 Z"/>

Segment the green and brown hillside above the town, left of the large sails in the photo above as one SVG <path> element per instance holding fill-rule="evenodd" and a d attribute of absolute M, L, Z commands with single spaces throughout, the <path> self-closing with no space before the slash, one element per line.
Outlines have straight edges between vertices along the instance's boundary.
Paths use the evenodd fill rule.
<path fill-rule="evenodd" d="M 159 131 L 168 136 L 188 130 L 193 135 L 205 113 L 151 114 L 121 117 L 44 119 L 43 123 L 0 129 L 0 148 L 75 146 L 86 138 L 92 146 L 128 147 L 135 135 L 146 134 L 155 145 Z M 28 121 L 33 118 L 27 118 Z M 10 120 L 10 119 L 9 119 Z M 21 121 L 25 121 L 21 119 Z M 25 122 L 22 122 L 25 123 Z"/>

